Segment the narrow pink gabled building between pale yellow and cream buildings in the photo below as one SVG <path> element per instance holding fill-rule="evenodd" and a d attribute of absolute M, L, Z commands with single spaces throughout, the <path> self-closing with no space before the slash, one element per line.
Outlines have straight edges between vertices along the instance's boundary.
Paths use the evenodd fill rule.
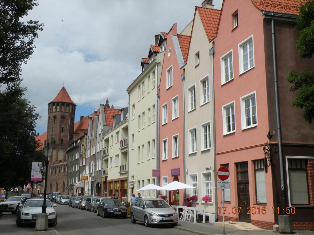
<path fill-rule="evenodd" d="M 191 30 L 187 30 L 188 34 Z M 162 39 L 162 38 L 160 38 Z M 160 185 L 172 181 L 183 182 L 183 110 L 182 80 L 183 65 L 186 63 L 190 36 L 177 34 L 175 23 L 166 36 L 164 63 L 160 78 L 159 91 L 159 128 L 160 128 Z M 163 191 L 172 204 L 174 192 Z M 183 190 L 180 203 L 183 201 Z M 167 195 L 168 194 L 168 195 Z"/>

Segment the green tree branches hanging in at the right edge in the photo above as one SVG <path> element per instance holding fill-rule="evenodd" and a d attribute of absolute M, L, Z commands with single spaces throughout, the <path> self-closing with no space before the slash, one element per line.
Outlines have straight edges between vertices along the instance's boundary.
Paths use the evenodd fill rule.
<path fill-rule="evenodd" d="M 314 1 L 300 6 L 295 29 L 299 30 L 296 48 L 300 59 L 310 59 L 314 54 Z M 311 70 L 298 72 L 290 70 L 287 81 L 292 84 L 290 91 L 297 91 L 292 107 L 304 108 L 304 119 L 314 119 L 314 73 Z"/>

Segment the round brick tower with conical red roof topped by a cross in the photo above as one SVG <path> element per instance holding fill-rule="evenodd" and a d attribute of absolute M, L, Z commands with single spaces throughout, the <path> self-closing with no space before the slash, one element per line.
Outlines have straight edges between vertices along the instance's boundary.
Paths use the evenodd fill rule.
<path fill-rule="evenodd" d="M 67 159 L 65 151 L 72 142 L 76 104 L 64 86 L 48 103 L 47 143 L 53 149 L 48 169 L 47 193 L 67 192 Z M 72 169 L 71 169 L 72 170 Z"/>

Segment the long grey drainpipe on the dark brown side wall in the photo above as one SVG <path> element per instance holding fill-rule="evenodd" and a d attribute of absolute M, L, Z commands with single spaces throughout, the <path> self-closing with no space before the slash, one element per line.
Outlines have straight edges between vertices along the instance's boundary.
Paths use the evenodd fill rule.
<path fill-rule="evenodd" d="M 277 63 L 276 63 L 276 42 L 275 42 L 275 26 L 274 20 L 272 23 L 272 48 L 273 48 L 273 73 L 274 73 L 274 87 L 275 87 L 275 102 L 276 102 L 276 120 L 278 133 L 278 149 L 279 149 L 279 167 L 280 167 L 280 184 L 283 208 L 286 208 L 286 196 L 284 191 L 284 168 L 282 163 L 282 144 L 281 144 L 281 127 L 280 127 L 280 113 L 279 113 L 279 95 L 278 95 L 278 81 L 277 81 Z M 285 209 L 284 209 L 285 211 Z"/>

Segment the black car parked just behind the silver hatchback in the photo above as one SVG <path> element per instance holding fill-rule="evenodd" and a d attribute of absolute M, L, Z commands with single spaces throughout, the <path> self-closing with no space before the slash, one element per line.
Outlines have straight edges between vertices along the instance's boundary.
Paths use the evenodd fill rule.
<path fill-rule="evenodd" d="M 117 199 L 103 199 L 97 207 L 96 215 L 127 217 L 127 207 L 122 205 L 122 202 Z"/>

